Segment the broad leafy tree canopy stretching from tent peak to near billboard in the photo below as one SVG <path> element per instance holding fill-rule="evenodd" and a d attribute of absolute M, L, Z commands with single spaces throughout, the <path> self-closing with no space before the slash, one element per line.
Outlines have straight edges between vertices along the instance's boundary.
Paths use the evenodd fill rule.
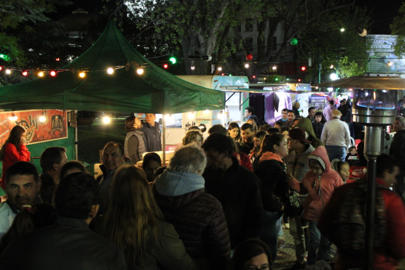
<path fill-rule="evenodd" d="M 302 57 L 308 61 L 309 53 L 314 55 L 319 48 L 323 50 L 323 59 L 331 58 L 327 54 L 333 53 L 336 60 L 337 45 L 325 46 L 323 37 L 332 36 L 332 44 L 339 24 L 355 29 L 366 28 L 368 23 L 365 11 L 353 8 L 353 0 L 131 0 L 126 3 L 131 18 L 148 34 L 156 50 L 162 54 L 181 51 L 189 74 L 191 65 L 195 66 L 193 74 L 207 74 L 211 73 L 210 64 L 226 62 L 232 74 L 250 76 L 288 58 Z M 257 48 L 252 48 L 243 38 L 240 24 L 245 20 L 257 25 Z M 284 39 L 274 41 L 279 25 Z M 294 49 L 289 46 L 293 37 L 302 41 Z M 243 56 L 254 49 L 257 58 L 247 70 L 242 66 Z M 205 55 L 211 55 L 213 60 L 210 63 L 201 60 Z"/>

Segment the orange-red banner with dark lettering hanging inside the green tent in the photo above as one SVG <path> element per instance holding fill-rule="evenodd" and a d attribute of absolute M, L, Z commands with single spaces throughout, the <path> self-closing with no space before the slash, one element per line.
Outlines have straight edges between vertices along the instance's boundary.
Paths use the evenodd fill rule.
<path fill-rule="evenodd" d="M 62 110 L 21 110 L 0 112 L 0 147 L 14 126 L 27 131 L 27 144 L 67 138 L 67 112 Z"/>

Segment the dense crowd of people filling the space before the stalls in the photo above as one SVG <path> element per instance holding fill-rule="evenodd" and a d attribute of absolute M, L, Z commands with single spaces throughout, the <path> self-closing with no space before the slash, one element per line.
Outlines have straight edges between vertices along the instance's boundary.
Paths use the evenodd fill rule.
<path fill-rule="evenodd" d="M 0 150 L 8 197 L 0 204 L 0 268 L 266 270 L 283 245 L 283 222 L 294 238 L 291 269 L 361 268 L 365 254 L 354 257 L 333 229 L 342 201 L 361 186 L 348 181 L 350 166 L 366 166 L 350 140 L 350 117 L 342 121 L 346 104 L 332 102 L 325 121 L 314 107 L 301 117 L 297 102 L 273 126 L 247 107 L 245 124 L 214 125 L 206 139 L 190 127 L 167 166 L 153 152 L 161 150 L 155 115 L 145 123 L 132 116 L 124 145 L 104 146 L 97 179 L 67 161 L 63 147 L 45 149 L 38 174 L 16 126 Z M 376 269 L 405 257 L 403 117 L 394 128 L 392 156 L 377 159 L 385 240 Z M 394 183 L 399 196 L 389 190 Z"/>

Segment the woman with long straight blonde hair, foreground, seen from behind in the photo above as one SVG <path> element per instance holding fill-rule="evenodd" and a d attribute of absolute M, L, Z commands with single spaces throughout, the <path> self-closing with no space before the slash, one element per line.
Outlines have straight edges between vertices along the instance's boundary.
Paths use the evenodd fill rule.
<path fill-rule="evenodd" d="M 199 269 L 173 225 L 163 221 L 145 173 L 121 166 L 110 189 L 104 236 L 124 251 L 128 269 Z"/>

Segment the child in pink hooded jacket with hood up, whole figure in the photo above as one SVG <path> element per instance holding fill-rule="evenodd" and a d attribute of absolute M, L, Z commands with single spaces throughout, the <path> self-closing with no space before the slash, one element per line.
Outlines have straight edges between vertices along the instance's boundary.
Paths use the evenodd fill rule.
<path fill-rule="evenodd" d="M 316 261 L 325 261 L 331 246 L 328 239 L 320 234 L 317 223 L 320 214 L 331 199 L 333 191 L 343 185 L 343 180 L 339 173 L 332 169 L 324 146 L 317 147 L 308 156 L 308 163 L 310 171 L 305 174 L 302 183 L 291 173 L 288 173 L 287 177 L 291 189 L 299 194 L 308 194 L 302 215 L 303 218 L 309 220 L 310 240 L 307 263 L 308 266 L 311 266 Z"/>

